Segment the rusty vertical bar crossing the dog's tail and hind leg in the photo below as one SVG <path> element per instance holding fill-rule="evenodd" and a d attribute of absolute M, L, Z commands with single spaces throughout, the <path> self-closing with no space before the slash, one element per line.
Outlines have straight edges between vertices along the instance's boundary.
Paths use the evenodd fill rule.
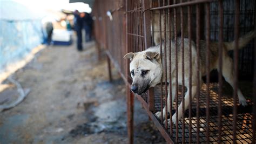
<path fill-rule="evenodd" d="M 237 136 L 237 91 L 238 91 L 238 39 L 239 39 L 239 9 L 240 1 L 235 1 L 235 22 L 234 22 L 234 107 L 233 107 L 233 143 L 236 143 Z"/>

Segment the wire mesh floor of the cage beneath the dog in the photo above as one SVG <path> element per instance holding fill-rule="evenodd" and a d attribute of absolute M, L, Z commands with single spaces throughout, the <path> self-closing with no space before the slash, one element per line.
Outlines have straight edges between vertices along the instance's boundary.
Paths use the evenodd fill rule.
<path fill-rule="evenodd" d="M 164 87 L 164 85 L 163 85 Z M 163 94 L 164 94 L 163 88 Z M 156 111 L 161 110 L 160 106 L 160 86 L 154 88 L 154 99 L 155 99 L 155 108 Z M 199 96 L 199 118 L 197 119 L 196 116 L 196 102 L 197 99 L 195 98 L 192 102 L 192 116 L 191 116 L 191 140 L 192 142 L 197 141 L 197 131 L 199 130 L 199 142 L 204 143 L 206 142 L 206 85 L 204 84 L 200 90 Z M 146 97 L 143 97 L 145 101 L 147 101 Z M 176 104 L 174 100 L 172 114 L 176 111 Z M 179 99 L 178 103 L 180 104 L 181 101 L 181 87 L 179 87 Z M 210 135 L 210 142 L 217 143 L 218 142 L 218 84 L 211 83 L 210 84 L 210 122 L 209 122 L 209 135 Z M 163 107 L 165 104 L 165 96 L 163 96 Z M 237 102 L 238 104 L 238 102 Z M 252 143 L 252 102 L 248 102 L 248 106 L 238 106 L 238 114 L 237 114 L 237 143 Z M 230 96 L 223 95 L 221 98 L 221 142 L 223 143 L 233 143 L 233 98 Z M 189 142 L 189 111 L 188 109 L 185 111 L 184 121 L 185 121 L 185 142 Z M 169 116 L 170 117 L 170 116 Z M 197 120 L 199 120 L 199 127 L 197 126 Z M 160 122 L 160 121 L 159 121 Z M 182 118 L 178 122 L 178 142 L 182 140 Z M 162 125 L 165 127 L 164 125 Z M 167 130 L 170 133 L 170 128 Z M 173 141 L 176 141 L 176 126 L 173 126 L 172 129 L 172 137 Z"/>

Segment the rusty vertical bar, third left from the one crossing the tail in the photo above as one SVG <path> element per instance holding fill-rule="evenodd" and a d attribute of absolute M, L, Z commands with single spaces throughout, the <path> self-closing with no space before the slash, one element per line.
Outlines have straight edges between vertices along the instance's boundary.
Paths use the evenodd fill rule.
<path fill-rule="evenodd" d="M 199 143 L 199 93 L 200 93 L 200 8 L 199 4 L 196 5 L 196 24 L 197 24 L 197 40 L 196 40 L 196 47 L 197 47 L 197 143 Z"/>

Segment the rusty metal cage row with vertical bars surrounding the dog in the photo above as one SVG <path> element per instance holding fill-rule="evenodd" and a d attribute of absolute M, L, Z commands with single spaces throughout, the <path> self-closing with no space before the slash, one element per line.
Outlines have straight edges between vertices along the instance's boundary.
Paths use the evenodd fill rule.
<path fill-rule="evenodd" d="M 127 127 L 130 143 L 133 143 L 133 102 L 135 97 L 142 102 L 149 118 L 159 129 L 159 132 L 168 143 L 255 143 L 255 99 L 256 99 L 256 42 L 255 38 L 244 49 L 238 50 L 239 37 L 247 32 L 256 30 L 256 4 L 254 0 L 193 0 L 193 1 L 99 1 L 93 5 L 95 17 L 95 36 L 99 47 L 104 47 L 107 53 L 109 74 L 111 79 L 110 60 L 119 70 L 127 85 Z M 108 15 L 106 14 L 108 12 Z M 112 17 L 112 18 L 111 18 Z M 184 38 L 188 39 L 188 61 L 184 60 Z M 192 44 L 196 46 L 197 62 L 199 63 L 201 40 L 204 40 L 206 51 L 204 63 L 206 77 L 200 86 L 200 65 L 191 61 Z M 234 85 L 226 86 L 223 78 L 223 44 L 234 40 L 234 50 L 228 52 L 233 59 Z M 174 43 L 172 48 L 171 41 Z M 179 41 L 179 42 L 178 42 Z M 210 45 L 217 42 L 217 51 L 211 51 Z M 166 51 L 174 50 L 180 43 L 181 56 Z M 123 59 L 128 52 L 144 51 L 150 46 L 160 46 L 163 76 L 159 85 L 150 88 L 143 95 L 133 94 L 130 91 L 132 78 L 129 70 L 129 60 Z M 218 72 L 210 74 L 212 54 L 218 54 Z M 176 71 L 176 79 L 169 76 L 167 68 L 178 65 L 181 58 L 181 72 Z M 169 63 L 167 61 L 170 61 Z M 185 87 L 184 63 L 188 63 L 189 83 Z M 201 62 L 203 63 L 203 62 Z M 192 67 L 197 68 L 197 93 L 192 99 Z M 171 73 L 170 73 L 171 75 Z M 182 83 L 178 84 L 178 76 Z M 169 87 L 169 82 L 174 81 L 176 91 Z M 237 98 L 240 81 L 244 87 L 248 106 L 239 105 Z M 174 91 L 174 92 L 172 92 Z M 227 91 L 227 92 L 226 92 Z M 174 93 L 176 98 L 173 105 L 167 105 L 168 93 Z M 188 92 L 187 97 L 184 97 Z M 171 101 L 171 97 L 169 98 Z M 178 104 L 181 113 L 176 113 Z M 165 111 L 161 111 L 166 106 Z M 167 112 L 169 108 L 170 113 Z M 160 119 L 154 115 L 161 112 Z M 165 113 L 166 116 L 163 116 Z M 178 121 L 172 124 L 172 115 L 176 113 Z M 178 119 L 181 114 L 182 118 Z M 170 125 L 167 123 L 170 119 Z M 165 120 L 165 122 L 164 122 Z M 164 122 L 164 123 L 163 123 Z"/>

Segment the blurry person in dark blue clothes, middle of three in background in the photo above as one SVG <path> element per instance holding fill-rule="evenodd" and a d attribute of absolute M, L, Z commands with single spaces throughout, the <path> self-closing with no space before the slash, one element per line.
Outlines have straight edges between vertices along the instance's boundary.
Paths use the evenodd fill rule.
<path fill-rule="evenodd" d="M 74 27 L 75 31 L 77 33 L 77 50 L 82 51 L 82 29 L 83 29 L 83 19 L 80 17 L 80 12 L 78 10 L 75 10 L 73 12 L 74 17 Z"/>

